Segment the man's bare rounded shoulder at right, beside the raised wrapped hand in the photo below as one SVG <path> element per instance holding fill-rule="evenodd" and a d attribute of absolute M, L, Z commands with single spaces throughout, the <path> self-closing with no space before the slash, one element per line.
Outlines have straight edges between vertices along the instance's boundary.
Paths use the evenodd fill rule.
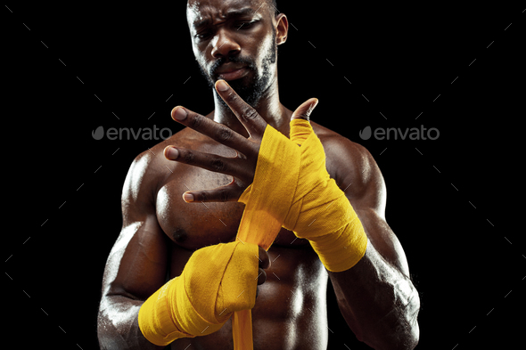
<path fill-rule="evenodd" d="M 349 200 L 366 208 L 374 208 L 379 215 L 385 211 L 386 188 L 380 168 L 363 145 L 352 142 L 317 123 L 313 129 L 324 145 L 329 175 L 345 191 Z"/>

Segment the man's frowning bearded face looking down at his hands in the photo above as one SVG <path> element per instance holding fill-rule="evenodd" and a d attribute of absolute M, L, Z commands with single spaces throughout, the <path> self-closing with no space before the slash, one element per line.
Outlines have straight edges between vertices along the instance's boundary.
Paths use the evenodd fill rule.
<path fill-rule="evenodd" d="M 210 87 L 223 78 L 257 107 L 276 78 L 274 8 L 265 0 L 190 0 L 186 16 L 193 54 Z"/>

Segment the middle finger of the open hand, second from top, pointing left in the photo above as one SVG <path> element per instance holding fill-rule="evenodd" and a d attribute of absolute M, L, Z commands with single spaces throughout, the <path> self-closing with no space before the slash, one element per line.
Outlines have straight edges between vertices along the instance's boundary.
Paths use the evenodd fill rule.
<path fill-rule="evenodd" d="M 209 136 L 211 139 L 216 140 L 234 150 L 241 151 L 243 154 L 248 155 L 251 152 L 256 152 L 255 145 L 253 142 L 248 141 L 241 134 L 237 134 L 223 124 L 216 123 L 210 118 L 206 118 L 199 113 L 195 113 L 192 110 L 187 110 L 184 107 L 177 106 L 171 111 L 172 119 L 188 126 L 198 133 Z"/>

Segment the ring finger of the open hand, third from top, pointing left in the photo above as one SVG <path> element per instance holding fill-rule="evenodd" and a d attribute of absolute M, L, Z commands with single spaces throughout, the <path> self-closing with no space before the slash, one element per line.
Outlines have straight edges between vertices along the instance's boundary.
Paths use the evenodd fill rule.
<path fill-rule="evenodd" d="M 251 175 L 248 174 L 245 167 L 242 167 L 242 164 L 240 164 L 242 158 L 226 158 L 215 154 L 176 148 L 174 146 L 167 146 L 164 149 L 164 156 L 166 159 L 175 160 L 179 163 L 202 167 L 203 169 L 216 173 L 236 176 L 244 181 L 251 180 Z"/>

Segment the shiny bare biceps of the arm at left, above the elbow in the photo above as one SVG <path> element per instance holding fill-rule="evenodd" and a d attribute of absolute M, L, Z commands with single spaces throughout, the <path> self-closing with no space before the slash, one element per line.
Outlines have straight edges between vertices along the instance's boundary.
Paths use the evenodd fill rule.
<path fill-rule="evenodd" d="M 155 218 L 128 224 L 108 257 L 103 296 L 126 295 L 143 300 L 150 297 L 166 279 L 167 250 Z"/>

